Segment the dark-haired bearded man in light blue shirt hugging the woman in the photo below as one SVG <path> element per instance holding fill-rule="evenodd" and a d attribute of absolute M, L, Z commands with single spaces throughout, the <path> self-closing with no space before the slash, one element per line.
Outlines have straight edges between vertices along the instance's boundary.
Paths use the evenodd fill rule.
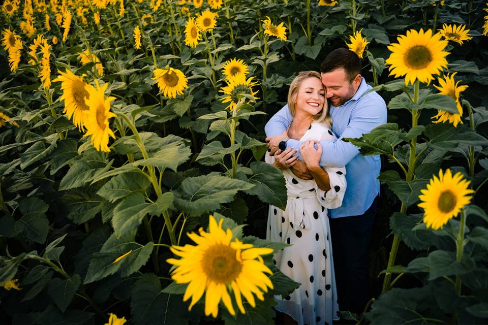
<path fill-rule="evenodd" d="M 363 156 L 343 138 L 359 138 L 386 123 L 386 105 L 361 77 L 361 60 L 356 53 L 339 48 L 330 52 L 320 67 L 326 98 L 330 104 L 332 131 L 337 141 L 322 141 L 320 166 L 346 167 L 347 190 L 341 207 L 329 210 L 335 279 L 341 310 L 361 313 L 370 299 L 368 251 L 380 184 L 378 155 Z M 294 148 L 299 158 L 301 142 L 288 139 L 286 129 L 293 116 L 283 107 L 265 126 L 271 154 Z M 302 161 L 292 168 L 302 179 L 312 179 Z"/>

